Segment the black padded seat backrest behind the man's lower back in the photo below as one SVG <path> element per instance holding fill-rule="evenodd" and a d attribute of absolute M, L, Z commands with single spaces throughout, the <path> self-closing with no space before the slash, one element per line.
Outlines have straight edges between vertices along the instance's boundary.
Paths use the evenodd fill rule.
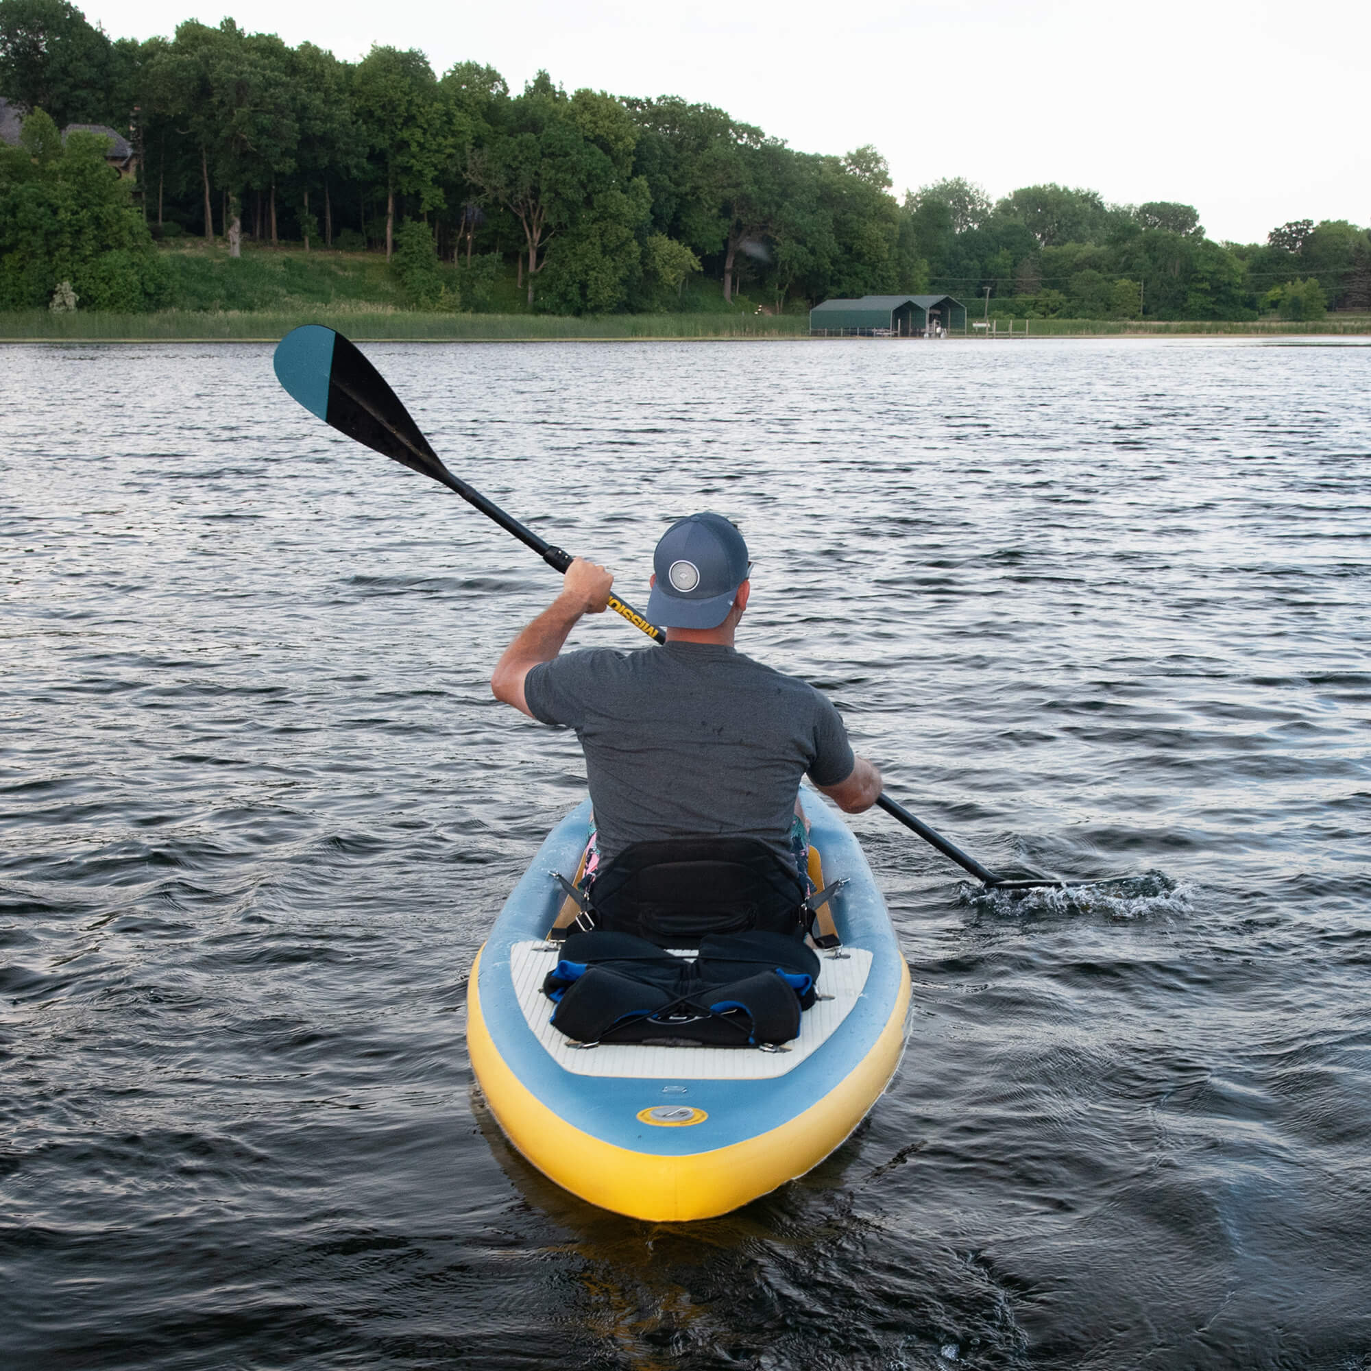
<path fill-rule="evenodd" d="M 755 838 L 632 843 L 600 869 L 590 895 L 596 928 L 661 947 L 749 930 L 805 935 L 799 876 Z"/>

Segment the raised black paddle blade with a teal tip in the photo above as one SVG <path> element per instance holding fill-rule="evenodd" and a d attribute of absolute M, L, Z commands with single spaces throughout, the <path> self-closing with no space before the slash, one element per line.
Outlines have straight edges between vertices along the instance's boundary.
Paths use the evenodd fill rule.
<path fill-rule="evenodd" d="M 448 484 L 429 447 L 385 378 L 341 333 L 319 324 L 292 329 L 276 345 L 277 380 L 325 424 L 402 466 Z"/>

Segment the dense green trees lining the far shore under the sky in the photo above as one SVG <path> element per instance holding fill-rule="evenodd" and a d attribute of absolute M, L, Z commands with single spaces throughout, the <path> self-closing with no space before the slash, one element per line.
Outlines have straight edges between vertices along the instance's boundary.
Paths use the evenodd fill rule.
<path fill-rule="evenodd" d="M 1238 245 L 1211 241 L 1190 206 L 1113 206 L 1057 185 L 991 202 L 950 180 L 898 200 L 872 147 L 798 152 L 712 106 L 568 93 L 546 73 L 511 93 L 492 67 L 439 75 L 414 49 L 340 62 L 232 19 L 111 40 L 70 0 L 0 0 L 0 96 L 27 114 L 27 148 L 0 156 L 11 307 L 45 303 L 63 269 L 89 278 L 106 251 L 159 303 L 165 285 L 138 252 L 189 233 L 234 254 L 244 239 L 384 251 L 428 307 L 441 307 L 446 260 L 513 266 L 526 306 L 557 313 L 677 308 L 699 280 L 724 303 L 746 291 L 776 310 L 897 292 L 1030 318 L 1371 308 L 1371 239 L 1345 221 Z M 128 130 L 140 171 L 122 193 L 145 225 L 140 239 L 119 221 L 108 245 L 88 226 L 78 267 L 40 232 L 43 214 L 82 213 L 60 186 L 88 184 L 90 149 L 52 141 L 70 123 Z M 70 223 L 67 237 L 75 260 Z"/>

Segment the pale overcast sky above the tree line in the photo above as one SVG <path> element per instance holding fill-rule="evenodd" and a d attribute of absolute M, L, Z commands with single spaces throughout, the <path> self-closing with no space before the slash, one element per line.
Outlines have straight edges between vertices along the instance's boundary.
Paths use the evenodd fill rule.
<path fill-rule="evenodd" d="M 1368 0 L 89 0 L 111 37 L 185 18 L 304 38 L 355 60 L 422 48 L 511 90 L 539 67 L 568 90 L 717 104 L 805 152 L 873 143 L 897 193 L 964 175 L 993 197 L 1090 186 L 1182 200 L 1211 237 L 1287 219 L 1371 223 Z"/>

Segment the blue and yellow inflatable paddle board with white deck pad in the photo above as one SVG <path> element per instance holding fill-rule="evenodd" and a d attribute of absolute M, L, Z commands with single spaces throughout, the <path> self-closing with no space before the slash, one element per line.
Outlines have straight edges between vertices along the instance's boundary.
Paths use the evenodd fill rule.
<path fill-rule="evenodd" d="M 547 934 L 576 875 L 590 802 L 548 834 L 514 887 L 468 983 L 476 1079 L 506 1137 L 539 1171 L 635 1219 L 727 1213 L 802 1176 L 838 1148 L 890 1083 L 905 1046 L 909 971 L 857 839 L 806 806 L 840 946 L 821 953 L 820 999 L 787 1050 L 600 1043 L 550 1023 Z"/>

